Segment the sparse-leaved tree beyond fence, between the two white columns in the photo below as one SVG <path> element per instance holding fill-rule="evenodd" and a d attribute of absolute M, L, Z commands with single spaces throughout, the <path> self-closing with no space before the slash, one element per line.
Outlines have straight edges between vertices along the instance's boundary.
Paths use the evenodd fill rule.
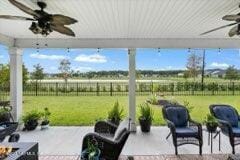
<path fill-rule="evenodd" d="M 60 76 L 67 83 L 68 79 L 71 77 L 71 62 L 68 59 L 63 59 L 59 65 Z"/>

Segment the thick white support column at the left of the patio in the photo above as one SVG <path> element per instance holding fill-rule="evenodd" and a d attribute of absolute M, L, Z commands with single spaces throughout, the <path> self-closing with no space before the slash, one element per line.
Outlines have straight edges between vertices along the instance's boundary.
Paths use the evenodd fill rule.
<path fill-rule="evenodd" d="M 13 107 L 12 115 L 18 121 L 22 114 L 22 53 L 23 50 L 10 47 L 10 103 Z"/>

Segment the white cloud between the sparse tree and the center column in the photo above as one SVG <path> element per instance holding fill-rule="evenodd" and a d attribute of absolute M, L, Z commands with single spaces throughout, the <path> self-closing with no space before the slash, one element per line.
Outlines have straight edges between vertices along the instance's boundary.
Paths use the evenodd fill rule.
<path fill-rule="evenodd" d="M 77 62 L 88 62 L 88 63 L 106 63 L 107 62 L 107 58 L 100 54 L 91 54 L 91 55 L 80 54 L 74 60 Z"/>

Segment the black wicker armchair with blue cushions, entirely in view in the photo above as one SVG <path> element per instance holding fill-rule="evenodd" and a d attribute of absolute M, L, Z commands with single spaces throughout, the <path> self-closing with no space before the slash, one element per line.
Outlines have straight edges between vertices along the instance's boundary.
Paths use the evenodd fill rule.
<path fill-rule="evenodd" d="M 202 125 L 191 119 L 187 108 L 169 105 L 163 107 L 162 112 L 172 134 L 175 154 L 178 154 L 178 146 L 193 144 L 199 146 L 199 154 L 202 155 Z"/>

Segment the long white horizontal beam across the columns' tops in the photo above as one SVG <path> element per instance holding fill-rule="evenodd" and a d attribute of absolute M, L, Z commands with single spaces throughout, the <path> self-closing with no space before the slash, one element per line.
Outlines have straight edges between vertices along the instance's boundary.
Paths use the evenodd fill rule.
<path fill-rule="evenodd" d="M 36 43 L 40 48 L 240 48 L 238 38 L 16 39 L 15 47 L 36 48 Z"/>

